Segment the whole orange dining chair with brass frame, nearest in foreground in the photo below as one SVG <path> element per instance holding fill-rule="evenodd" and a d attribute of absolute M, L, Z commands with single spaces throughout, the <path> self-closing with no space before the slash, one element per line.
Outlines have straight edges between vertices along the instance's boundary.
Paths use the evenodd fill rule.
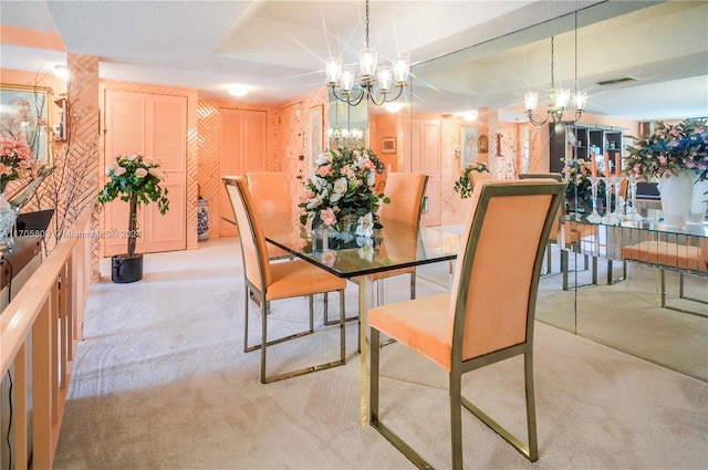
<path fill-rule="evenodd" d="M 475 186 L 450 292 L 368 311 L 369 422 L 419 468 L 429 464 L 381 420 L 379 356 L 387 351 L 379 347 L 382 333 L 448 373 L 449 467 L 462 468 L 462 406 L 529 460 L 538 460 L 533 322 L 543 250 L 563 190 L 564 185 L 551 179 L 490 180 Z M 513 289 L 500 289 L 503 285 Z M 517 355 L 524 357 L 528 446 L 461 396 L 462 374 Z M 447 397 L 440 396 L 440 401 Z M 391 417 L 402 404 L 399 397 L 389 401 L 385 414 Z"/>

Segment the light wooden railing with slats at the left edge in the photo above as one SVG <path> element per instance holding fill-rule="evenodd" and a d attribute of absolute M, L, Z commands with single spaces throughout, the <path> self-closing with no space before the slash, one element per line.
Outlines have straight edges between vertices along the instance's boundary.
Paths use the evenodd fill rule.
<path fill-rule="evenodd" d="M 81 215 L 69 232 L 73 236 L 54 247 L 0 316 L 0 369 L 2 377 L 8 370 L 14 373 L 15 469 L 52 468 L 75 344 L 83 337 L 91 283 L 91 212 Z"/>

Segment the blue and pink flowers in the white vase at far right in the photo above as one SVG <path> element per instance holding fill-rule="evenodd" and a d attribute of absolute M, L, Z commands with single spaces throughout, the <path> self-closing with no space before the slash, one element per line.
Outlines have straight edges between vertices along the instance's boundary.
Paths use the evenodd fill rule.
<path fill-rule="evenodd" d="M 633 137 L 627 147 L 625 170 L 642 180 L 671 176 L 683 169 L 708 179 L 708 128 L 706 119 L 685 119 L 676 125 L 657 123 L 648 137 Z"/>

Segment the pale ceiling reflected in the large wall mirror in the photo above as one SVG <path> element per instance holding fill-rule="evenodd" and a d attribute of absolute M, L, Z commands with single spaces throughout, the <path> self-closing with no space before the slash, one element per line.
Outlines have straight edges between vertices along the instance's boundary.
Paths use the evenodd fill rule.
<path fill-rule="evenodd" d="M 589 112 L 632 121 L 707 116 L 707 24 L 706 1 L 597 4 L 421 64 L 414 108 L 522 111 L 528 91 L 548 102 L 554 36 L 555 85 L 585 92 Z M 625 76 L 637 80 L 598 84 Z"/>

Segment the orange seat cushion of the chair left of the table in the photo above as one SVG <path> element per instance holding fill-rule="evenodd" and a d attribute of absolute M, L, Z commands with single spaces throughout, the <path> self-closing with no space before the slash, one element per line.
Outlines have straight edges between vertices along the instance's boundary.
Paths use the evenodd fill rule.
<path fill-rule="evenodd" d="M 346 280 L 306 261 L 270 263 L 270 274 L 271 283 L 266 294 L 268 301 L 340 291 L 346 288 Z"/>

